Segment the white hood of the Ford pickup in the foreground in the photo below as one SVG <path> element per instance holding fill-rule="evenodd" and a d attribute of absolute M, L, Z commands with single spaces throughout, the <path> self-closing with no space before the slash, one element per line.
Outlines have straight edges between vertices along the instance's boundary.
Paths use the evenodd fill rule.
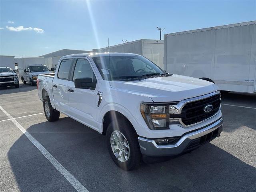
<path fill-rule="evenodd" d="M 132 94 L 148 96 L 153 102 L 181 101 L 219 90 L 211 82 L 175 74 L 132 82 L 110 81 L 110 86 Z"/>

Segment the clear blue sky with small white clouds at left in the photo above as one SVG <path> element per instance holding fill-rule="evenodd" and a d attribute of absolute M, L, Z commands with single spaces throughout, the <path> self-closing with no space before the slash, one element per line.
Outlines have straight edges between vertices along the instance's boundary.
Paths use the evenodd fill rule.
<path fill-rule="evenodd" d="M 106 47 L 108 38 L 110 45 L 159 39 L 156 26 L 167 34 L 252 20 L 256 1 L 246 0 L 0 0 L 0 54 L 92 50 Z"/>

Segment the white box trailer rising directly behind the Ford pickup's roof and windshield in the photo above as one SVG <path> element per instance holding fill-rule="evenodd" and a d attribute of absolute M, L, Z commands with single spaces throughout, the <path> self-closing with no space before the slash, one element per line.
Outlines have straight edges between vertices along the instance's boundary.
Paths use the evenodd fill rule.
<path fill-rule="evenodd" d="M 101 48 L 101 52 L 108 52 L 108 47 Z M 142 55 L 160 68 L 164 68 L 164 41 L 163 40 L 152 40 L 152 39 L 140 39 L 131 41 L 128 43 L 122 43 L 109 47 L 110 52 L 117 53 L 135 53 Z"/>

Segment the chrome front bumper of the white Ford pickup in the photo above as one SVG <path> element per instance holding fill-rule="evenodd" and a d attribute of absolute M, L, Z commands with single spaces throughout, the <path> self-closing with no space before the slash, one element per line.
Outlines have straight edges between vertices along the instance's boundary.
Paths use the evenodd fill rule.
<path fill-rule="evenodd" d="M 158 145 L 155 140 L 138 137 L 140 151 L 147 156 L 175 156 L 186 153 L 210 142 L 222 132 L 223 119 L 220 118 L 199 130 L 184 134 L 176 144 Z"/>

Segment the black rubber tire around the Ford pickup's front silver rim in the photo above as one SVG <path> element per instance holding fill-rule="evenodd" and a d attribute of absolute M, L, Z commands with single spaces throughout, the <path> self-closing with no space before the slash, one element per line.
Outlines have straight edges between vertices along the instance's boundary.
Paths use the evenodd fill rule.
<path fill-rule="evenodd" d="M 136 134 L 133 127 L 131 127 L 130 123 L 127 122 L 125 119 L 119 119 L 119 120 L 113 120 L 107 129 L 106 136 L 107 136 L 107 147 L 108 152 L 112 158 L 112 160 L 115 162 L 115 164 L 122 168 L 123 170 L 134 170 L 140 166 L 140 163 L 142 161 L 142 154 L 140 153 L 140 146 L 138 142 L 138 135 Z M 111 140 L 110 137 L 112 135 L 112 132 L 114 131 L 120 131 L 127 139 L 129 147 L 130 147 L 130 155 L 126 162 L 121 162 L 116 158 L 114 155 L 114 152 L 112 151 L 111 147 Z"/>

